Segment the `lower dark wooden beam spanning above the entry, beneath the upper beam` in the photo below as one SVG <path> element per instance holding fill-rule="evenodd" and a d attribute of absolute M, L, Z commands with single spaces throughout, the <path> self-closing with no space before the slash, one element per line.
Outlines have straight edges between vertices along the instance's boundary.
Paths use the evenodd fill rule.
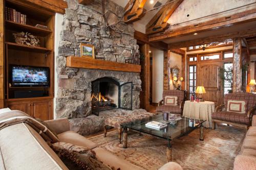
<path fill-rule="evenodd" d="M 220 42 L 224 41 L 226 39 L 234 38 L 234 37 L 253 37 L 256 36 L 256 29 L 249 29 L 244 30 L 240 32 L 234 32 L 234 33 L 228 33 L 228 34 L 221 34 L 221 35 L 214 35 L 204 38 L 198 38 L 198 39 L 192 39 L 188 41 L 182 41 L 182 42 L 175 42 L 168 44 L 168 49 L 176 49 L 176 48 L 182 48 L 182 47 L 188 47 L 188 46 L 195 46 L 195 45 L 201 45 L 206 44 L 210 42 Z"/>

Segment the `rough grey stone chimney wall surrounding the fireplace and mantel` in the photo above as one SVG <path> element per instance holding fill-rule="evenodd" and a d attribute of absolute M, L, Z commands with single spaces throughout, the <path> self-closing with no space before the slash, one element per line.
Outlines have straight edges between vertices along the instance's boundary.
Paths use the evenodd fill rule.
<path fill-rule="evenodd" d="M 133 109 L 139 108 L 141 80 L 139 73 L 95 70 L 66 67 L 67 56 L 80 56 L 80 43 L 95 47 L 95 59 L 124 63 L 131 57 L 131 49 L 136 45 L 133 37 L 133 25 L 120 22 L 117 27 L 123 30 L 117 33 L 106 27 L 102 18 L 101 1 L 95 0 L 84 6 L 77 0 L 67 0 L 69 8 L 63 19 L 63 30 L 59 42 L 56 62 L 58 93 L 56 99 L 56 117 L 85 117 L 91 114 L 91 81 L 101 77 L 115 77 L 122 82 L 132 81 Z M 106 1 L 105 9 L 121 20 L 123 8 Z"/>

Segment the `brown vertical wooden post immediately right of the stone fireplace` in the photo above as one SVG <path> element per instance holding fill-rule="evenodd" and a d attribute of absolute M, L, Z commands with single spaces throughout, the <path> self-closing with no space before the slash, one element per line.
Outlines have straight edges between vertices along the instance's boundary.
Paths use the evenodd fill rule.
<path fill-rule="evenodd" d="M 150 44 L 144 44 L 144 107 L 148 111 L 150 108 Z"/>

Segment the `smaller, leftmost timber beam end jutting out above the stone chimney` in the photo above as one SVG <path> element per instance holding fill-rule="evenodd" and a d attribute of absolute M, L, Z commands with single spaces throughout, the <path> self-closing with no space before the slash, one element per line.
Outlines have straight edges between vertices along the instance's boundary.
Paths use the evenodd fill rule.
<path fill-rule="evenodd" d="M 132 23 L 140 20 L 144 16 L 144 12 L 146 12 L 146 9 L 143 8 L 146 1 L 147 0 L 135 0 L 132 1 L 131 4 L 128 2 L 128 4 L 124 7 L 124 22 Z"/>

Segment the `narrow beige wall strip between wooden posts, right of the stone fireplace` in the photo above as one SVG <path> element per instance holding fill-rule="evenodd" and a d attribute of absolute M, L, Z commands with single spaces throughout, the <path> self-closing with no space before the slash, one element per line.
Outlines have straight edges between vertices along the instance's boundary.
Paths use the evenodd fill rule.
<path fill-rule="evenodd" d="M 163 94 L 163 51 L 153 47 L 151 51 L 153 55 L 152 102 L 158 103 L 162 100 Z"/>

